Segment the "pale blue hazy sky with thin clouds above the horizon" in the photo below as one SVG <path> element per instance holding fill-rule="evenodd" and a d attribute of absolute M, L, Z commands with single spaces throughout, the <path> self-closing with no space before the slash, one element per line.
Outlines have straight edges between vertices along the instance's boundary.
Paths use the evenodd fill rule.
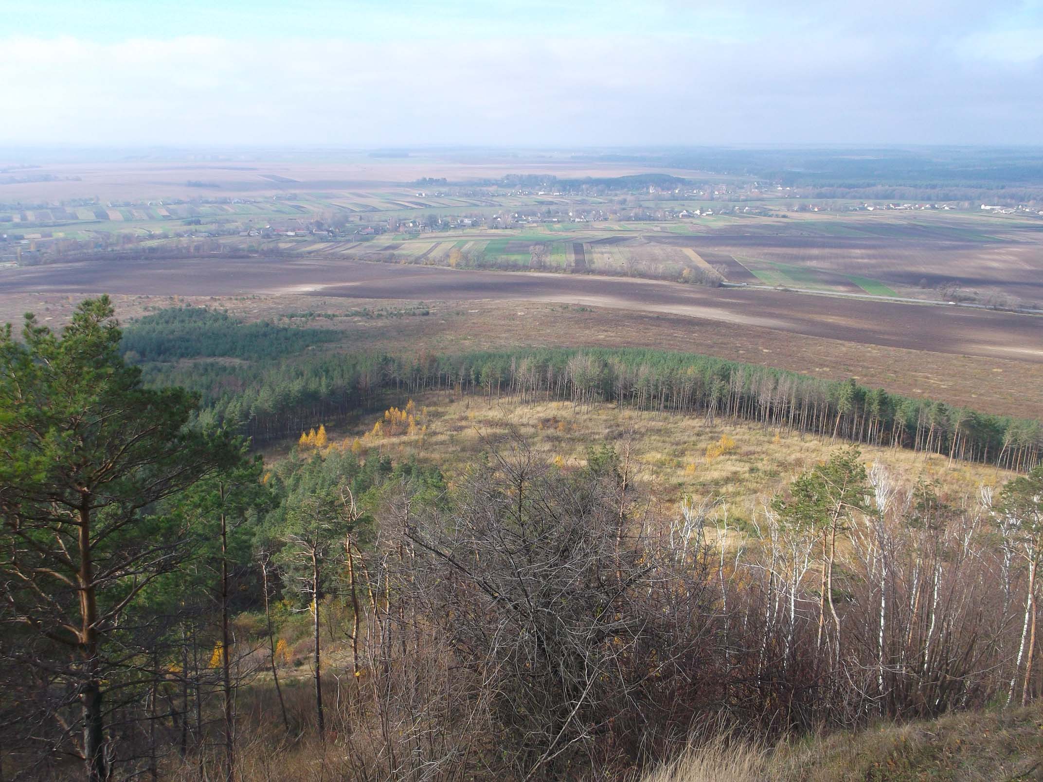
<path fill-rule="evenodd" d="M 1043 0 L 0 0 L 0 96 L 6 145 L 1043 144 Z"/>

